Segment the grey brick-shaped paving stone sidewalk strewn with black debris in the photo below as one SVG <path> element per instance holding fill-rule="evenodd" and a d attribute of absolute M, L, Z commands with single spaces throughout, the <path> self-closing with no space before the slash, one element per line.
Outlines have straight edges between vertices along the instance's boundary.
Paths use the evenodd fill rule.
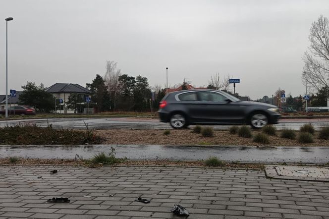
<path fill-rule="evenodd" d="M 174 204 L 188 219 L 329 219 L 329 183 L 217 168 L 0 166 L 0 219 L 172 219 Z"/>

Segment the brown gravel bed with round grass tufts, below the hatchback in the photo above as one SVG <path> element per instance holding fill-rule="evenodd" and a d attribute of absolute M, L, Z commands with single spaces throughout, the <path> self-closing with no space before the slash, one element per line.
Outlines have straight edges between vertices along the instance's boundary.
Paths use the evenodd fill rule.
<path fill-rule="evenodd" d="M 262 146 L 253 142 L 253 138 L 242 138 L 230 134 L 228 131 L 214 131 L 214 137 L 202 137 L 201 134 L 192 133 L 191 129 L 170 130 L 164 135 L 164 130 L 127 130 L 110 129 L 95 130 L 95 133 L 104 138 L 103 144 L 157 144 L 157 145 L 244 145 Z M 259 130 L 253 130 L 256 135 Z M 267 146 L 329 146 L 329 140 L 314 139 L 314 143 L 302 144 L 297 140 L 280 138 L 280 131 L 275 136 L 269 136 L 270 144 Z M 296 132 L 298 135 L 298 132 Z M 315 137 L 318 133 L 315 133 Z"/>

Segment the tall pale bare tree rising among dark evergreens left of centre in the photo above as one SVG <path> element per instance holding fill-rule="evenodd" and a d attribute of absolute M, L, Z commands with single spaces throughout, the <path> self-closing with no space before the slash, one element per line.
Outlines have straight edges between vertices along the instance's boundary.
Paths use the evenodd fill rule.
<path fill-rule="evenodd" d="M 104 76 L 105 83 L 108 91 L 110 92 L 110 99 L 115 109 L 115 103 L 117 99 L 117 93 L 119 92 L 119 76 L 121 70 L 116 68 L 117 62 L 107 61 L 106 62 L 106 73 Z"/>

